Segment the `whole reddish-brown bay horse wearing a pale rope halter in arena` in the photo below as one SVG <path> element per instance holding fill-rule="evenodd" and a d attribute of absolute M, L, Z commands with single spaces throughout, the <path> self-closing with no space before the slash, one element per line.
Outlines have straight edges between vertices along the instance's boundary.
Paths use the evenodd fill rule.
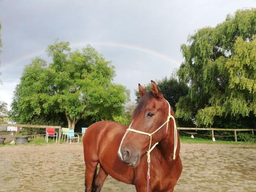
<path fill-rule="evenodd" d="M 86 130 L 86 192 L 100 191 L 108 175 L 135 185 L 138 192 L 173 191 L 182 171 L 179 135 L 170 104 L 155 82 L 151 86 L 148 92 L 139 84 L 141 99 L 128 128 L 101 121 Z"/>

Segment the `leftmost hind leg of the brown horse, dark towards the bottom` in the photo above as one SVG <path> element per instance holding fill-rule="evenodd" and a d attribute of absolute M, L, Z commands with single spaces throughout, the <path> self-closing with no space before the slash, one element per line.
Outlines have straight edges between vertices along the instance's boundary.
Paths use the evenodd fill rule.
<path fill-rule="evenodd" d="M 94 181 L 97 174 L 98 162 L 86 164 L 85 170 L 85 192 L 91 192 L 94 188 Z"/>

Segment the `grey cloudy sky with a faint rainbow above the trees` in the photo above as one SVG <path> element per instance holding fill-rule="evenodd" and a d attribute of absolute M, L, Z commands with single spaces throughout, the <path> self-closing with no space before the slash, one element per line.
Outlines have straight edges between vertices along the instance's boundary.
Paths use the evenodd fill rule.
<path fill-rule="evenodd" d="M 180 45 L 196 29 L 225 20 L 255 0 L 54 1 L 0 0 L 0 100 L 12 101 L 24 66 L 56 38 L 72 49 L 91 44 L 115 65 L 115 83 L 131 90 L 170 76 L 182 62 Z"/>

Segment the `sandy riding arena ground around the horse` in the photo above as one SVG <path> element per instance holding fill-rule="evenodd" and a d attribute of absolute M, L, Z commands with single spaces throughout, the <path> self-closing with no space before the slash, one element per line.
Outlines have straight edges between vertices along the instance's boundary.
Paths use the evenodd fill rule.
<path fill-rule="evenodd" d="M 175 191 L 256 191 L 256 145 L 181 144 Z M 82 144 L 0 147 L 0 191 L 84 191 Z M 107 177 L 102 191 L 136 191 Z"/>

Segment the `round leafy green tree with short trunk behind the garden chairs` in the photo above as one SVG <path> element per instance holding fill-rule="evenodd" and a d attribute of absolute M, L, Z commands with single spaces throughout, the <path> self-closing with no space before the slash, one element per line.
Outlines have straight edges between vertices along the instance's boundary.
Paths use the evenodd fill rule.
<path fill-rule="evenodd" d="M 124 113 L 129 91 L 112 83 L 114 66 L 93 47 L 71 52 L 68 42 L 56 41 L 46 51 L 49 66 L 35 58 L 24 69 L 11 105 L 13 119 L 25 123 L 61 115 L 74 129 L 80 119 L 113 120 Z"/>

